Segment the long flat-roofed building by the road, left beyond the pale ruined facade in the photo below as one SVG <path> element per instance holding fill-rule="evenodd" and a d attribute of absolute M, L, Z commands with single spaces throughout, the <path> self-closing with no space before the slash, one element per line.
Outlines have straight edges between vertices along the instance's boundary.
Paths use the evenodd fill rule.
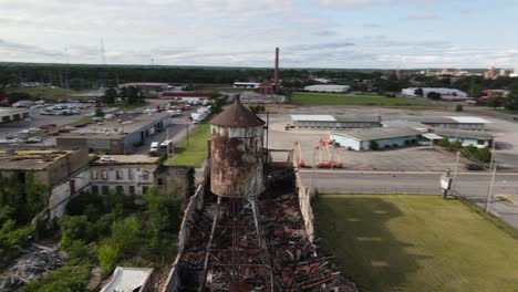
<path fill-rule="evenodd" d="M 55 138 L 55 143 L 60 147 L 83 147 L 90 152 L 132 154 L 147 138 L 164 131 L 169 119 L 167 112 L 126 115 L 117 121 L 79 128 L 74 133 L 63 133 Z"/>

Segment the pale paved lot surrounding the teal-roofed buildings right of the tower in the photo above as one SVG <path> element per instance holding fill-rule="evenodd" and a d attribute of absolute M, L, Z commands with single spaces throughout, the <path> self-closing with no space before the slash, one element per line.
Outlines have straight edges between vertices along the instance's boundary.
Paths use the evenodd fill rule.
<path fill-rule="evenodd" d="M 382 152 L 349 152 L 338 150 L 329 147 L 315 150 L 320 139 L 328 139 L 331 129 L 290 129 L 284 126 L 291 124 L 290 114 L 300 112 L 304 114 L 352 114 L 352 115 L 381 115 L 383 119 L 406 119 L 418 121 L 421 116 L 457 116 L 473 115 L 469 113 L 454 113 L 442 111 L 405 111 L 397 108 L 351 108 L 351 107 L 303 107 L 284 108 L 284 114 L 270 114 L 269 147 L 271 148 L 294 148 L 298 153 L 296 142 L 300 142 L 302 159 L 305 165 L 315 161 L 341 160 L 345 169 L 351 170 L 394 170 L 394 171 L 443 171 L 446 168 L 455 168 L 455 158 L 433 150 L 429 146 L 407 147 Z M 266 118 L 265 116 L 262 116 Z M 496 136 L 496 160 L 500 169 L 518 169 L 518 123 L 500 121 L 485 117 L 491 123 L 486 126 L 486 131 Z M 459 169 L 464 165 L 459 163 Z"/>

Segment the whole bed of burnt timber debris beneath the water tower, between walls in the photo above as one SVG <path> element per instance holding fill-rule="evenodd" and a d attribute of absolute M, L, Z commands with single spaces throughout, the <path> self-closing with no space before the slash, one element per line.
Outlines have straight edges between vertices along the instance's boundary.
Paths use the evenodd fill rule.
<path fill-rule="evenodd" d="M 263 196 L 258 205 L 269 265 L 263 264 L 253 232 L 232 239 L 232 222 L 227 219 L 232 206 L 224 199 L 219 206 L 218 201 L 208 202 L 190 226 L 189 241 L 177 265 L 178 291 L 356 291 L 333 264 L 332 257 L 321 255 L 318 247 L 308 241 L 297 195 Z M 252 215 L 247 208 L 242 210 L 238 228 L 252 230 Z M 216 216 L 220 217 L 219 223 L 211 232 Z M 231 254 L 232 240 L 239 242 L 234 251 L 238 254 Z M 213 249 L 208 271 L 207 246 Z M 228 269 L 236 265 L 238 270 Z M 235 281 L 236 277 L 240 281 Z"/>

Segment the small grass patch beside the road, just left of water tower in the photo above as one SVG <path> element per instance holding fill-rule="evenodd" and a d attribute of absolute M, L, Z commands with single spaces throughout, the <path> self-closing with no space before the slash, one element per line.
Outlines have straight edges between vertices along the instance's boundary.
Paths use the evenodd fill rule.
<path fill-rule="evenodd" d="M 165 165 L 200 167 L 207 158 L 207 140 L 210 137 L 210 124 L 200 124 L 189 135 L 189 145 L 184 139 L 176 148 L 173 158 Z"/>

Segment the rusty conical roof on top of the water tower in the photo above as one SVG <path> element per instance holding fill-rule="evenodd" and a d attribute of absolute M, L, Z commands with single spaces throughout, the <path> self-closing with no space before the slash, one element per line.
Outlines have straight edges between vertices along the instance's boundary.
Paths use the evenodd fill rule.
<path fill-rule="evenodd" d="M 236 102 L 213 118 L 210 124 L 219 127 L 259 127 L 265 125 L 265 122 L 248 111 L 239 98 L 236 98 Z"/>

